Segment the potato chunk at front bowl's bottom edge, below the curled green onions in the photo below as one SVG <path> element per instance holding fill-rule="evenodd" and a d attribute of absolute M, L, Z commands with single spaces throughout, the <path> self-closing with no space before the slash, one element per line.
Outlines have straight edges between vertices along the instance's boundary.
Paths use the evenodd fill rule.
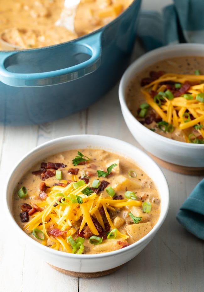
<path fill-rule="evenodd" d="M 93 245 L 92 249 L 94 252 L 100 253 L 100 252 L 106 252 L 106 251 L 115 251 L 119 249 L 118 241 L 126 242 L 124 238 L 116 237 L 115 239 L 110 240 L 104 240 L 100 244 Z"/>

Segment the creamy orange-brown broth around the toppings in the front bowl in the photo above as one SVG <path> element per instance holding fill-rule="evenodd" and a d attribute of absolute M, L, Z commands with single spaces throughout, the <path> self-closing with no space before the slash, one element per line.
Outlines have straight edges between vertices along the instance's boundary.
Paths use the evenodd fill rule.
<path fill-rule="evenodd" d="M 120 232 L 120 234 L 127 235 L 127 238 L 122 238 L 120 234 L 116 235 L 115 239 L 106 239 L 104 238 L 102 243 L 100 244 L 91 244 L 89 242 L 90 234 L 85 238 L 83 243 L 85 254 L 93 254 L 93 253 L 101 253 L 107 251 L 113 251 L 116 249 L 120 249 L 124 246 L 132 244 L 146 235 L 156 224 L 160 214 L 160 196 L 158 191 L 153 183 L 153 181 L 145 174 L 143 170 L 141 170 L 137 165 L 135 165 L 131 160 L 128 160 L 120 155 L 107 152 L 101 149 L 80 149 L 79 150 L 83 155 L 90 158 L 88 162 L 84 165 L 77 165 L 73 166 L 72 160 L 77 155 L 77 150 L 69 150 L 66 152 L 58 153 L 48 157 L 47 159 L 43 160 L 43 162 L 56 162 L 56 163 L 63 163 L 66 165 L 64 168 L 59 168 L 62 171 L 62 180 L 57 180 L 56 176 L 50 177 L 42 181 L 39 175 L 32 174 L 32 171 L 36 171 L 40 169 L 40 163 L 34 165 L 19 181 L 13 195 L 13 214 L 16 222 L 19 226 L 23 229 L 26 224 L 39 214 L 40 211 L 36 210 L 35 213 L 29 215 L 28 222 L 22 222 L 20 218 L 20 214 L 22 213 L 21 206 L 24 203 L 29 204 L 33 207 L 33 203 L 39 206 L 42 210 L 45 208 L 45 203 L 47 198 L 40 198 L 40 183 L 45 182 L 46 186 L 53 187 L 54 184 L 57 182 L 64 182 L 67 181 L 79 181 L 82 177 L 88 178 L 88 185 L 89 187 L 92 186 L 94 180 L 106 181 L 108 185 L 104 188 L 104 190 L 99 191 L 97 193 L 97 198 L 101 196 L 104 199 L 110 199 L 112 202 L 117 199 L 117 202 L 122 202 L 122 200 L 126 199 L 125 193 L 126 191 L 131 191 L 135 193 L 135 197 L 137 199 L 128 199 L 126 201 L 137 201 L 139 202 L 140 206 L 124 206 L 122 208 L 114 207 L 112 209 L 107 209 L 110 219 L 114 224 L 114 227 Z M 111 170 L 110 175 L 106 177 L 98 177 L 97 170 L 104 170 L 107 171 L 107 167 L 113 164 L 117 164 L 117 166 L 113 167 Z M 78 168 L 78 174 L 72 175 L 67 172 L 70 168 Z M 131 170 L 131 173 L 130 173 Z M 53 170 L 52 170 L 53 171 Z M 129 174 L 128 174 L 129 172 Z M 131 175 L 131 176 L 129 176 Z M 132 177 L 134 176 L 134 177 Z M 87 182 L 87 181 L 86 181 Z M 26 187 L 27 189 L 27 196 L 25 198 L 19 198 L 18 191 L 21 187 Z M 106 189 L 107 187 L 111 187 L 115 191 L 115 195 L 111 197 Z M 62 188 L 62 187 L 61 187 Z M 47 188 L 45 191 L 49 194 L 50 189 Z M 80 195 L 79 195 L 80 196 Z M 96 199 L 97 199 L 96 198 Z M 84 198 L 83 198 L 84 200 Z M 116 200 L 115 200 L 116 202 Z M 143 212 L 143 204 L 144 202 L 148 202 L 151 205 L 151 212 L 146 213 Z M 57 204 L 56 204 L 57 205 Z M 99 206 L 99 211 L 101 212 L 101 207 Z M 54 208 L 60 208 L 56 206 Z M 114 211 L 115 209 L 115 211 Z M 103 211 L 103 210 L 102 210 Z M 139 221 L 137 224 L 133 222 L 132 217 L 130 217 L 130 213 L 132 213 L 135 218 Z M 101 233 L 104 237 L 106 237 L 104 232 L 108 234 L 110 230 L 113 229 L 109 226 L 107 218 L 104 212 L 101 212 L 102 218 L 104 220 L 106 231 L 103 230 Z M 62 215 L 62 214 L 61 214 Z M 95 215 L 91 215 L 93 220 L 97 220 Z M 48 220 L 48 219 L 47 219 Z M 81 224 L 82 217 L 74 222 L 72 226 L 68 226 L 67 228 L 63 229 L 66 230 L 67 233 L 63 234 L 62 237 L 65 241 L 67 241 L 67 234 L 69 230 L 72 228 L 72 237 L 74 240 L 77 238 L 77 230 Z M 98 221 L 97 221 L 98 222 Z M 49 225 L 51 224 L 51 225 Z M 136 226 L 137 225 L 137 226 Z M 37 228 L 40 228 L 39 225 Z M 42 226 L 41 226 L 42 227 Z M 135 228 L 133 228 L 135 227 Z M 61 228 L 61 226 L 57 225 L 56 222 L 52 222 L 49 219 L 49 222 L 46 224 L 47 232 L 51 228 Z M 83 231 L 81 235 L 85 235 L 87 232 L 87 224 L 84 225 Z M 35 236 L 32 234 L 31 229 L 24 229 L 24 231 L 32 237 L 34 240 L 51 247 L 54 245 L 52 239 L 57 240 L 57 237 L 50 235 L 49 239 L 45 237 L 45 240 L 36 239 Z M 89 230 L 88 230 L 89 231 Z M 83 232 L 85 232 L 83 234 Z M 93 234 L 92 234 L 93 235 Z M 97 235 L 100 237 L 100 234 Z M 58 246 L 58 248 L 62 251 L 66 251 L 62 246 Z"/>

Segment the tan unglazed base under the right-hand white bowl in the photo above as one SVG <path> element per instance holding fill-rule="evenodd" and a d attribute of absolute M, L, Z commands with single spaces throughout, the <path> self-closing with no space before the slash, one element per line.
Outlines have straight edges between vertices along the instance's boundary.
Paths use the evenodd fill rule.
<path fill-rule="evenodd" d="M 190 175 L 190 176 L 201 176 L 204 174 L 204 167 L 188 167 L 188 166 L 182 166 L 182 165 L 176 165 L 164 160 L 159 159 L 158 157 L 148 153 L 149 156 L 153 158 L 153 160 L 158 163 L 159 165 L 165 167 L 168 170 Z"/>

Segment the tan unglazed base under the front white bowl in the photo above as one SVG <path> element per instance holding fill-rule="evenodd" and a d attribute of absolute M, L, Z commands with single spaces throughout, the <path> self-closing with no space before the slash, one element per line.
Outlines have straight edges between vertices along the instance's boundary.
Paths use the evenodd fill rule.
<path fill-rule="evenodd" d="M 66 275 L 69 275 L 69 276 L 72 276 L 72 277 L 78 277 L 78 278 L 96 278 L 96 277 L 102 277 L 102 276 L 108 275 L 110 273 L 113 273 L 113 272 L 119 270 L 121 267 L 124 266 L 124 264 L 123 264 L 123 265 L 121 265 L 119 267 L 116 267 L 116 268 L 113 268 L 113 269 L 110 269 L 110 270 L 106 270 L 106 271 L 96 272 L 96 273 L 80 273 L 80 272 L 72 272 L 72 271 L 68 271 L 68 270 L 61 269 L 61 268 L 57 268 L 55 266 L 52 266 L 48 262 L 47 262 L 47 264 L 49 266 L 51 266 L 52 268 L 54 268 L 55 270 L 57 270 L 58 272 L 61 272 L 63 274 L 66 274 Z"/>

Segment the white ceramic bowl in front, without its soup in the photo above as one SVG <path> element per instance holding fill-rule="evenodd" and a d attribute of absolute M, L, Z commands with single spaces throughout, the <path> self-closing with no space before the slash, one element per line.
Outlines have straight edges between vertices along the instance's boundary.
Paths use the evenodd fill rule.
<path fill-rule="evenodd" d="M 105 149 L 107 151 L 129 157 L 135 161 L 135 163 L 140 168 L 142 168 L 148 174 L 148 176 L 150 176 L 150 178 L 154 181 L 161 197 L 161 213 L 158 222 L 155 224 L 153 229 L 142 239 L 117 251 L 92 255 L 77 255 L 50 249 L 28 236 L 19 227 L 13 218 L 12 196 L 14 187 L 19 181 L 20 177 L 26 171 L 28 171 L 30 167 L 36 163 L 36 161 L 40 161 L 43 158 L 50 156 L 51 154 L 55 154 L 61 151 L 88 147 Z M 142 251 L 145 246 L 147 246 L 147 244 L 157 233 L 158 229 L 161 227 L 167 215 L 169 208 L 169 187 L 162 171 L 159 169 L 156 163 L 151 158 L 149 158 L 147 154 L 143 153 L 135 146 L 121 140 L 105 136 L 76 135 L 51 140 L 50 142 L 36 147 L 34 150 L 24 156 L 24 158 L 14 168 L 8 179 L 5 189 L 4 201 L 6 203 L 5 209 L 7 216 L 13 225 L 12 230 L 16 231 L 19 240 L 21 240 L 23 243 L 26 243 L 27 246 L 30 246 L 32 250 L 36 251 L 36 255 L 39 255 L 46 262 L 58 268 L 73 272 L 94 273 L 106 271 L 128 262 L 140 251 Z"/>

